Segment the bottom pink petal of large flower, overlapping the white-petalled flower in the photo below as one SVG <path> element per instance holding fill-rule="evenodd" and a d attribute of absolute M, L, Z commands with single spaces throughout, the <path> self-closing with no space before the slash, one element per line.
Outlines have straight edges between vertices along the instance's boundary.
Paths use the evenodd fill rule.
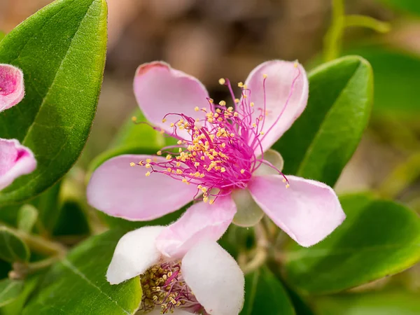
<path fill-rule="evenodd" d="M 181 258 L 203 239 L 217 241 L 228 229 L 237 209 L 230 196 L 218 197 L 214 204 L 193 204 L 181 218 L 156 239 L 163 255 Z"/>

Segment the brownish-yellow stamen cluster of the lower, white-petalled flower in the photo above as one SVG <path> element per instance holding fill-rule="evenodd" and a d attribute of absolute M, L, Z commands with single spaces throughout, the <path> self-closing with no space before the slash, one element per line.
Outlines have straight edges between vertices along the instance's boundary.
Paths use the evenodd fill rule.
<path fill-rule="evenodd" d="M 140 311 L 148 313 L 156 306 L 162 314 L 173 313 L 174 309 L 184 309 L 193 314 L 207 314 L 197 301 L 181 273 L 181 262 L 167 262 L 155 265 L 141 276 L 143 297 Z"/>

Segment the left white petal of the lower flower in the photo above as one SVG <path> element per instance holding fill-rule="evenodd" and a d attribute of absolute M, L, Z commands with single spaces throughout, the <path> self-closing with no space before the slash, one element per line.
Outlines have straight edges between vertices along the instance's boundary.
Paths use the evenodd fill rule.
<path fill-rule="evenodd" d="M 128 232 L 118 241 L 106 279 L 118 284 L 144 274 L 146 270 L 162 260 L 155 246 L 155 239 L 164 227 L 147 226 Z"/>

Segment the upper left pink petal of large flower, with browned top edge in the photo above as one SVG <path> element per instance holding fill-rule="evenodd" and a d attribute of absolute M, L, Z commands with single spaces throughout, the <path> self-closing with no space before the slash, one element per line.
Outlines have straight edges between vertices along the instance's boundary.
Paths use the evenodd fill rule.
<path fill-rule="evenodd" d="M 162 118 L 167 113 L 184 113 L 193 118 L 204 118 L 202 111 L 195 107 L 209 107 L 206 87 L 193 76 L 172 69 L 165 62 L 142 64 L 134 77 L 134 94 L 144 116 L 155 126 L 172 134 L 170 123 L 179 120 L 179 116 L 168 116 L 167 123 Z M 185 130 L 177 134 L 186 137 Z"/>

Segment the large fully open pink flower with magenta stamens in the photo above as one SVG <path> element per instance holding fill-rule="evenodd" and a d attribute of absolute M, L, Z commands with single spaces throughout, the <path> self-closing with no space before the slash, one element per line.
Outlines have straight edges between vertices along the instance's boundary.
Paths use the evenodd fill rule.
<path fill-rule="evenodd" d="M 235 109 L 224 101 L 214 104 L 200 81 L 168 64 L 140 66 L 137 102 L 155 129 L 178 144 L 158 156 L 106 161 L 92 175 L 88 201 L 111 216 L 148 221 L 202 200 L 157 238 L 169 257 L 201 239 L 218 239 L 232 221 L 253 225 L 263 213 L 300 245 L 318 243 L 345 218 L 334 190 L 285 176 L 281 155 L 269 150 L 307 104 L 303 67 L 280 60 L 260 64 L 239 83 L 240 99 L 229 80 L 219 83 L 230 90 Z"/>

